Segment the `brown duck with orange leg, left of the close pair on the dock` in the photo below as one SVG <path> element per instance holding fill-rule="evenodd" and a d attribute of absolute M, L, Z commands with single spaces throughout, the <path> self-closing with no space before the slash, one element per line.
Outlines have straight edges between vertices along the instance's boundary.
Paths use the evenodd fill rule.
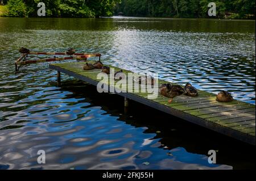
<path fill-rule="evenodd" d="M 171 103 L 173 98 L 184 94 L 185 90 L 181 86 L 172 85 L 171 83 L 165 83 L 159 87 L 159 93 L 163 96 L 166 96 L 167 98 L 171 98 L 170 100 L 168 100 L 168 102 Z"/>

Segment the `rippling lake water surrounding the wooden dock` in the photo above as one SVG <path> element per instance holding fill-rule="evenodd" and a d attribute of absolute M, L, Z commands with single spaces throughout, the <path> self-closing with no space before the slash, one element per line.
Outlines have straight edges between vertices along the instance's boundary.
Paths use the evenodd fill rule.
<path fill-rule="evenodd" d="M 122 97 L 72 77 L 57 87 L 47 63 L 14 74 L 20 47 L 100 52 L 106 64 L 255 104 L 255 21 L 0 18 L 0 169 L 255 168 L 253 146 L 139 103 L 125 111 Z"/>

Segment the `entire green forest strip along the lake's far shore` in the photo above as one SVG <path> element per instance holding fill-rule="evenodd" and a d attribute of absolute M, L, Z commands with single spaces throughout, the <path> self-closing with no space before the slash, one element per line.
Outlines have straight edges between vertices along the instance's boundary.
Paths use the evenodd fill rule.
<path fill-rule="evenodd" d="M 215 2 L 213 18 L 255 19 L 254 0 L 0 0 L 0 15 L 36 17 L 39 2 L 47 17 L 95 18 L 124 15 L 144 17 L 208 18 L 208 3 Z"/>

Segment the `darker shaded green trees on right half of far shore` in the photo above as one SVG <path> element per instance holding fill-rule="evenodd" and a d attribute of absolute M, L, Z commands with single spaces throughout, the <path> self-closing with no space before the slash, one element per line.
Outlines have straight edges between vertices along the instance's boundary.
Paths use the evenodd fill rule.
<path fill-rule="evenodd" d="M 216 3 L 216 18 L 255 18 L 254 0 L 122 0 L 115 14 L 126 16 L 162 16 L 208 18 L 208 4 Z M 227 16 L 236 13 L 238 15 Z"/>

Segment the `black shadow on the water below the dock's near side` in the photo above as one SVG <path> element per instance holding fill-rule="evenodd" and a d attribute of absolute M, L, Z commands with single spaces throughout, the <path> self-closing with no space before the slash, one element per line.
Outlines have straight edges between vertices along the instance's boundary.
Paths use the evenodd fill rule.
<path fill-rule="evenodd" d="M 72 96 L 84 96 L 92 105 L 101 105 L 102 110 L 119 121 L 134 127 L 146 127 L 144 133 L 157 133 L 159 148 L 184 148 L 189 153 L 207 155 L 209 150 L 217 151 L 217 164 L 233 166 L 233 169 L 254 169 L 255 146 L 245 144 L 228 136 L 181 120 L 175 116 L 144 106 L 130 100 L 129 108 L 123 107 L 123 97 L 116 94 L 99 94 L 95 86 L 65 81 L 62 89 L 73 92 Z M 81 86 L 84 85 L 84 86 Z"/>

